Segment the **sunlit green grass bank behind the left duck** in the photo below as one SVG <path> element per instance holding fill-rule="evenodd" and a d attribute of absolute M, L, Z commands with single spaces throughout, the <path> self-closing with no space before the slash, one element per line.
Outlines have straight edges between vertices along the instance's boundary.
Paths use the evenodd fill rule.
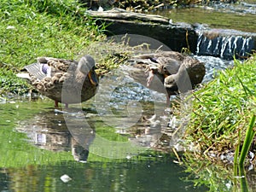
<path fill-rule="evenodd" d="M 85 10 L 72 0 L 2 0 L 0 93 L 25 89 L 15 73 L 38 56 L 78 59 L 90 42 L 102 39 L 102 28 Z"/>

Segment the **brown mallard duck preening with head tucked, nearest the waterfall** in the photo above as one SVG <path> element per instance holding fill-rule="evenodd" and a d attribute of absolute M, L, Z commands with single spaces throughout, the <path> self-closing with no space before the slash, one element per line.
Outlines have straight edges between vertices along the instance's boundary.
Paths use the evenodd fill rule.
<path fill-rule="evenodd" d="M 131 77 L 149 89 L 166 93 L 167 105 L 170 96 L 195 88 L 206 73 L 201 61 L 176 51 L 136 55 L 129 61 Z"/>

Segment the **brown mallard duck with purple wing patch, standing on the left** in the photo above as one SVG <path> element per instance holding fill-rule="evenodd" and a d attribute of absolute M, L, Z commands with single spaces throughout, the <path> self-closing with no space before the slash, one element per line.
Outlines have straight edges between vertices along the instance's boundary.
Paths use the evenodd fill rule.
<path fill-rule="evenodd" d="M 38 57 L 38 62 L 24 67 L 26 74 L 20 78 L 29 79 L 33 87 L 42 95 L 55 101 L 55 107 L 62 102 L 79 103 L 96 94 L 98 79 L 95 61 L 84 55 L 79 61 Z"/>

